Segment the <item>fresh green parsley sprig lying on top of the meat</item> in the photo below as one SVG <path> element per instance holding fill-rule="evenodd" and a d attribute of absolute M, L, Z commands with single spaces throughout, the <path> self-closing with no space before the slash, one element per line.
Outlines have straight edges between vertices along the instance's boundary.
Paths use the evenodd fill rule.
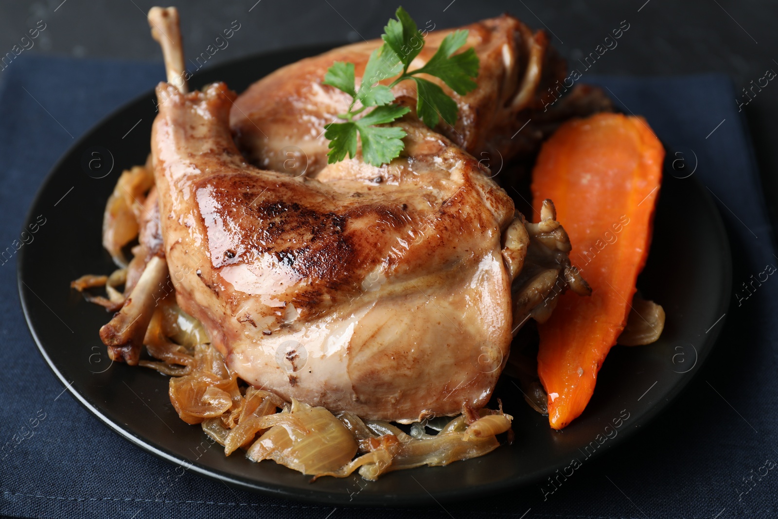
<path fill-rule="evenodd" d="M 346 154 L 356 156 L 357 135 L 362 141 L 362 155 L 367 163 L 380 166 L 400 155 L 405 147 L 402 128 L 380 126 L 410 110 L 394 103 L 393 86 L 411 79 L 416 84 L 416 115 L 429 128 L 434 128 L 440 117 L 453 125 L 457 121 L 457 103 L 447 96 L 435 83 L 419 77 L 419 74 L 433 75 L 442 79 L 450 89 L 464 95 L 477 86 L 473 80 L 478 76 L 478 56 L 471 47 L 460 54 L 454 54 L 468 40 L 467 30 L 456 30 L 443 39 L 432 58 L 422 68 L 408 71 L 413 59 L 424 47 L 424 35 L 418 29 L 405 9 L 399 7 L 397 19 L 390 19 L 381 36 L 384 44 L 378 47 L 365 66 L 359 89 L 356 87 L 354 64 L 335 61 L 324 75 L 324 84 L 334 86 L 352 96 L 349 111 L 338 114 L 345 122 L 324 126 L 324 137 L 330 139 L 328 163 L 345 159 Z M 397 76 L 389 85 L 380 84 L 384 79 Z M 369 107 L 370 113 L 355 118 Z"/>

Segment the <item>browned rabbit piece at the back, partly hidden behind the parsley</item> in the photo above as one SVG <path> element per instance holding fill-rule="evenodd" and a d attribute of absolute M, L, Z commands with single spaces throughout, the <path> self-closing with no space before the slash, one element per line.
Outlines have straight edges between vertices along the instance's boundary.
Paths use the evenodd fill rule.
<path fill-rule="evenodd" d="M 440 79 L 426 77 L 440 85 L 459 107 L 454 127 L 441 121 L 437 131 L 479 159 L 482 152 L 492 153 L 495 163 L 498 153 L 509 160 L 517 153 L 534 152 L 526 139 L 511 139 L 527 122 L 527 117 L 518 114 L 531 108 L 542 111 L 540 96 L 547 86 L 564 78 L 564 60 L 548 46 L 543 31 L 533 33 L 512 16 L 486 19 L 461 29 L 469 30 L 464 48 L 474 47 L 480 59 L 478 87 L 459 96 Z M 426 44 L 410 68 L 422 67 L 453 31 L 427 34 Z M 327 164 L 324 124 L 334 122 L 351 102 L 347 94 L 321 84 L 327 68 L 333 61 L 350 61 L 359 82 L 370 53 L 382 43 L 371 40 L 338 47 L 279 68 L 250 86 L 230 113 L 241 151 L 259 167 L 291 172 L 289 165 L 295 163 L 298 170 L 307 168 L 306 174 L 315 176 Z M 412 81 L 399 83 L 393 91 L 398 97 L 416 96 Z"/>

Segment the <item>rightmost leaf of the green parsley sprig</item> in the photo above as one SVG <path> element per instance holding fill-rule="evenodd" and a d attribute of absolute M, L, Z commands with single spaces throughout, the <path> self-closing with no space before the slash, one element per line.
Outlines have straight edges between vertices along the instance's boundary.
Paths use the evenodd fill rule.
<path fill-rule="evenodd" d="M 471 78 L 478 75 L 480 62 L 475 49 L 470 47 L 461 54 L 452 56 L 468 40 L 467 30 L 457 30 L 443 38 L 443 42 L 427 64 L 413 74 L 429 74 L 443 79 L 450 89 L 463 96 L 478 86 Z M 445 118 L 445 117 L 444 117 Z"/>

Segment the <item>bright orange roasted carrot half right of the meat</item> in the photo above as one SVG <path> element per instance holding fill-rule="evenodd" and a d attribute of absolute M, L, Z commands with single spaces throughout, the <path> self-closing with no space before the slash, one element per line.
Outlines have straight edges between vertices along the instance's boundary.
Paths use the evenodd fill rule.
<path fill-rule="evenodd" d="M 584 411 L 597 373 L 626 325 L 651 241 L 664 149 L 642 117 L 597 114 L 563 124 L 532 172 L 533 205 L 551 198 L 592 288 L 568 292 L 538 326 L 538 375 L 548 422 L 562 429 Z"/>

